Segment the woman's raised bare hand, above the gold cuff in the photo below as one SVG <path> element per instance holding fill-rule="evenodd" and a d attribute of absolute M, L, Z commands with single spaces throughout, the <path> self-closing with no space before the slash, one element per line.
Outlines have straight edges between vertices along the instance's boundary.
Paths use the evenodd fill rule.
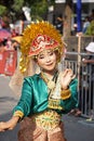
<path fill-rule="evenodd" d="M 61 84 L 63 89 L 67 89 L 70 81 L 76 77 L 73 75 L 72 70 L 70 68 L 67 68 L 63 72 L 62 78 L 61 78 Z"/>

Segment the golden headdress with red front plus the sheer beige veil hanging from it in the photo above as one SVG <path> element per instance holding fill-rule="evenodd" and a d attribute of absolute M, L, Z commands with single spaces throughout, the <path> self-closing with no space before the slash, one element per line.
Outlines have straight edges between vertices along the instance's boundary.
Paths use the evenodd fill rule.
<path fill-rule="evenodd" d="M 21 94 L 24 77 L 40 72 L 37 63 L 31 57 L 37 55 L 42 48 L 50 48 L 58 51 L 57 59 L 61 61 L 65 42 L 59 31 L 52 24 L 37 22 L 25 28 L 19 44 L 22 53 L 19 64 L 9 84 L 16 94 Z"/>

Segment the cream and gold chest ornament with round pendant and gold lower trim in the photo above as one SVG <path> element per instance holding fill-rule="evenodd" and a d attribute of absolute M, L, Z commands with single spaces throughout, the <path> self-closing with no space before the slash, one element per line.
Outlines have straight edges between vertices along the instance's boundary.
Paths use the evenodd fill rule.
<path fill-rule="evenodd" d="M 49 102 L 48 107 L 53 110 L 63 110 L 61 106 L 61 81 L 59 81 L 59 73 L 55 70 L 52 80 L 50 80 L 43 72 L 41 72 L 41 78 L 46 82 L 49 88 Z"/>

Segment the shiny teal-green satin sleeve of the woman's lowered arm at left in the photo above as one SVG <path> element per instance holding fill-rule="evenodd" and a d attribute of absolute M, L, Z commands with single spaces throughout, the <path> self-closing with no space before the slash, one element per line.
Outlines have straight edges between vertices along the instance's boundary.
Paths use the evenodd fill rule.
<path fill-rule="evenodd" d="M 32 87 L 29 79 L 24 78 L 23 88 L 22 88 L 22 95 L 17 103 L 17 105 L 14 107 L 13 113 L 15 111 L 21 111 L 24 113 L 24 116 L 29 115 L 31 112 L 31 102 L 32 102 Z"/>

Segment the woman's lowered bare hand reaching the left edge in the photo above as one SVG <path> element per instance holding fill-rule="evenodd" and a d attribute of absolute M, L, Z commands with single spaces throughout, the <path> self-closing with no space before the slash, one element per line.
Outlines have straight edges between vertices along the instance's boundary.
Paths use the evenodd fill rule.
<path fill-rule="evenodd" d="M 16 126 L 18 119 L 19 117 L 16 116 L 8 121 L 0 121 L 0 131 L 12 130 Z"/>

